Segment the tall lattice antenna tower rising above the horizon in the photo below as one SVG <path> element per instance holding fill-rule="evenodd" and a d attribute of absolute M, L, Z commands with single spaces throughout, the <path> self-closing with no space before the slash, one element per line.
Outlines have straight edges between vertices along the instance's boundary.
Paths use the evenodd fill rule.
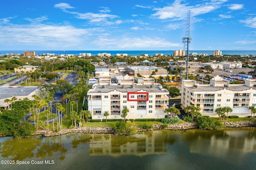
<path fill-rule="evenodd" d="M 190 28 L 190 10 L 188 10 L 188 15 L 187 15 L 187 23 L 186 23 L 186 31 L 185 31 L 185 37 L 182 37 L 182 43 L 184 43 L 184 51 L 186 50 L 186 80 L 188 80 L 188 47 L 189 47 L 189 43 L 190 40 L 192 39 L 191 36 L 189 36 L 189 28 Z"/>

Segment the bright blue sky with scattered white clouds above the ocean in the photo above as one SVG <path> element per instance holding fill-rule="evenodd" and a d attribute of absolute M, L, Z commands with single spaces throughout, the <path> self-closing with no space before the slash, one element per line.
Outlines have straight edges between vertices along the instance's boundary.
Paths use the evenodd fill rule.
<path fill-rule="evenodd" d="M 254 0 L 2 0 L 0 50 L 256 50 Z"/>

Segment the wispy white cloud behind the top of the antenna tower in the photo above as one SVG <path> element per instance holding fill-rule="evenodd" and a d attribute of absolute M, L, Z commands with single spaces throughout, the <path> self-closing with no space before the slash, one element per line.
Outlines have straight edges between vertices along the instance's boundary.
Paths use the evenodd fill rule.
<path fill-rule="evenodd" d="M 226 1 L 227 0 L 212 0 L 211 2 L 204 2 L 195 6 L 189 6 L 188 3 L 181 4 L 182 0 L 175 0 L 172 4 L 170 4 L 170 6 L 154 8 L 153 10 L 157 12 L 152 14 L 152 16 L 159 19 L 172 18 L 174 20 L 183 20 L 186 18 L 186 13 L 188 10 L 191 11 L 191 16 L 198 16 L 220 8 L 223 2 Z"/>

